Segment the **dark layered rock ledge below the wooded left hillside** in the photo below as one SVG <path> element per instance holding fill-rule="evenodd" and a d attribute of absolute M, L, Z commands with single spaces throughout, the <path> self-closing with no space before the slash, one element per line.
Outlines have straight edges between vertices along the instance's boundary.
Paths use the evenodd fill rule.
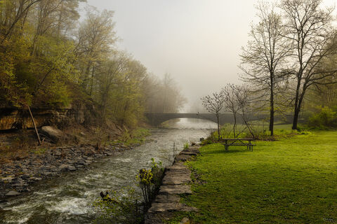
<path fill-rule="evenodd" d="M 95 124 L 98 122 L 98 111 L 90 103 L 74 103 L 63 109 L 48 109 L 32 107 L 37 127 L 55 125 L 62 127 L 69 123 L 81 125 Z M 17 108 L 0 109 L 0 130 L 12 130 L 34 127 L 28 110 Z"/>

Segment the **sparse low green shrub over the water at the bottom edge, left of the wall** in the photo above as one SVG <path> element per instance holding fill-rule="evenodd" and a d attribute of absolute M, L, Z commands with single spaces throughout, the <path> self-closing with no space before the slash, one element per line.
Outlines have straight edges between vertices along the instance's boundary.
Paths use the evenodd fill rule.
<path fill-rule="evenodd" d="M 137 196 L 133 188 L 111 191 L 104 198 L 93 203 L 100 216 L 95 223 L 143 223 L 143 212 L 140 210 Z"/>

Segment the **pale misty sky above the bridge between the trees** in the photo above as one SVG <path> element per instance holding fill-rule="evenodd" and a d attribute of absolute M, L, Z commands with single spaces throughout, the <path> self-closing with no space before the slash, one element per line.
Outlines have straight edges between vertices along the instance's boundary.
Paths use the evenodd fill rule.
<path fill-rule="evenodd" d="M 336 0 L 326 0 L 335 3 Z M 255 0 L 88 0 L 114 10 L 120 50 L 159 77 L 170 73 L 188 104 L 239 83 L 239 54 L 246 45 Z M 188 107 L 187 104 L 187 107 Z M 185 109 L 184 111 L 188 111 Z"/>

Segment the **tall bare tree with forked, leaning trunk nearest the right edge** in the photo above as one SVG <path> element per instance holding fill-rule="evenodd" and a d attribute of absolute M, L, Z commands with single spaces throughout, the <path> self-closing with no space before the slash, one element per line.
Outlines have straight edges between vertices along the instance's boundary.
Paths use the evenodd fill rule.
<path fill-rule="evenodd" d="M 322 0 L 283 0 L 280 8 L 286 18 L 286 38 L 294 42 L 291 74 L 296 81 L 293 99 L 293 130 L 297 129 L 303 99 L 312 85 L 328 84 L 326 78 L 337 73 L 336 68 L 326 69 L 324 60 L 337 49 L 333 32 L 333 8 L 321 9 Z M 333 81 L 334 83 L 335 81 Z"/>

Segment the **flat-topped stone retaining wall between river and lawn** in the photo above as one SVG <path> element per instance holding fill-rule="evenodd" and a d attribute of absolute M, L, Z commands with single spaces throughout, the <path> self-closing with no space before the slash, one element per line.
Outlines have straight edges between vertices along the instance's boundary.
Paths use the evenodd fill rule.
<path fill-rule="evenodd" d="M 184 162 L 199 154 L 199 146 L 185 147 L 174 160 L 171 167 L 166 167 L 159 193 L 145 214 L 145 224 L 164 223 L 176 211 L 197 211 L 180 203 L 180 195 L 192 194 L 191 171 Z"/>

